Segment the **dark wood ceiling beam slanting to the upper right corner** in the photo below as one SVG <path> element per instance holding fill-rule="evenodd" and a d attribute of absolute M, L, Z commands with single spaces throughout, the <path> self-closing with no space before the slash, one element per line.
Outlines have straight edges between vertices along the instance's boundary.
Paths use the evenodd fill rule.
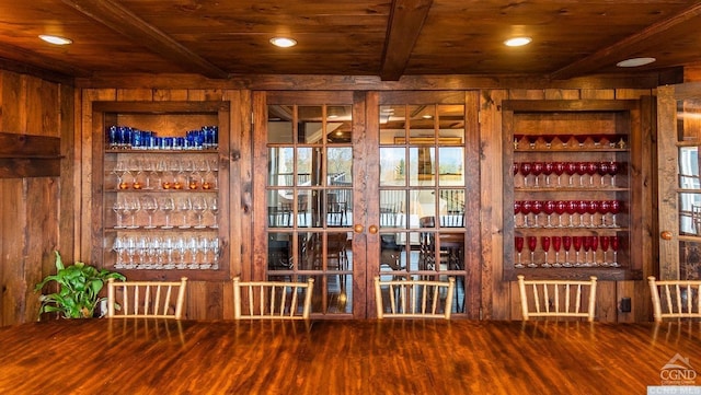
<path fill-rule="evenodd" d="M 601 65 L 620 61 L 621 54 L 633 54 L 645 47 L 645 42 L 651 37 L 664 34 L 678 24 L 685 23 L 701 15 L 701 3 L 694 4 L 685 11 L 657 22 L 642 30 L 640 33 L 625 37 L 622 40 L 602 48 L 585 58 L 570 63 L 550 74 L 553 80 L 566 80 L 596 71 Z"/>

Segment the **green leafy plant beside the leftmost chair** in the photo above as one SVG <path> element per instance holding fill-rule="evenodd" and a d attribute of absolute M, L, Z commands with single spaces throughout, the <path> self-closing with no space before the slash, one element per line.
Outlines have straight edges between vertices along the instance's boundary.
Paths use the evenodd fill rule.
<path fill-rule="evenodd" d="M 46 276 L 34 288 L 34 292 L 41 292 L 49 282 L 58 284 L 57 292 L 39 295 L 42 302 L 39 318 L 43 313 L 58 313 L 65 318 L 93 317 L 95 306 L 106 299 L 100 297 L 100 291 L 108 278 L 125 280 L 122 274 L 105 269 L 97 270 L 82 262 L 65 267 L 57 251 L 56 275 Z"/>

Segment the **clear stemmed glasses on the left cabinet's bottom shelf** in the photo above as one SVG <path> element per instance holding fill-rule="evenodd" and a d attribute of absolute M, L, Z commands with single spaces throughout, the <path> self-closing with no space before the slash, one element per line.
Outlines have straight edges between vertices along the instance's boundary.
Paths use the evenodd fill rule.
<path fill-rule="evenodd" d="M 221 241 L 216 236 L 196 235 L 120 235 L 112 251 L 115 269 L 211 269 L 219 268 Z"/>

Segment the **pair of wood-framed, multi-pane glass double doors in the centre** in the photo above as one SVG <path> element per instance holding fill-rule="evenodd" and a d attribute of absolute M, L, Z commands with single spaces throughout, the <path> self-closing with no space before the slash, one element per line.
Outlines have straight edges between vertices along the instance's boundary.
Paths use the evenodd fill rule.
<path fill-rule="evenodd" d="M 375 276 L 452 276 L 453 313 L 476 317 L 478 98 L 254 93 L 251 276 L 312 277 L 312 314 L 354 318 L 376 314 Z"/>

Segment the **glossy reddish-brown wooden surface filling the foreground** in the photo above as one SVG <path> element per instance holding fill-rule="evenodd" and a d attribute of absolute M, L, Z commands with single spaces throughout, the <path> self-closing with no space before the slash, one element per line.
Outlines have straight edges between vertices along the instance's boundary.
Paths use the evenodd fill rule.
<path fill-rule="evenodd" d="M 77 320 L 0 350 L 2 394 L 644 394 L 701 323 Z"/>

